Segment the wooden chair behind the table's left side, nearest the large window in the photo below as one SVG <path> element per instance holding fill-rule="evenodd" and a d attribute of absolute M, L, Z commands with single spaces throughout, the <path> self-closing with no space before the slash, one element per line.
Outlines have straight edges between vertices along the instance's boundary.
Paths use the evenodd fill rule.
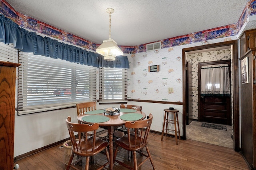
<path fill-rule="evenodd" d="M 81 116 L 85 114 L 86 112 L 96 110 L 96 102 L 84 102 L 84 103 L 79 103 L 76 104 L 76 111 L 77 111 L 77 116 Z M 78 123 L 81 123 L 78 121 Z M 96 130 L 96 136 L 100 136 L 101 134 L 104 134 L 108 132 L 107 129 L 104 128 L 98 128 Z M 93 135 L 93 132 L 88 132 L 91 136 Z M 106 138 L 107 135 L 102 136 L 102 138 Z"/>

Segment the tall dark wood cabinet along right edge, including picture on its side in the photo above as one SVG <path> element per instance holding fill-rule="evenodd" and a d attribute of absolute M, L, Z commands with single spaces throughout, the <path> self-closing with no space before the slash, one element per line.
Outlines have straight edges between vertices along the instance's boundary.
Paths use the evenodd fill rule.
<path fill-rule="evenodd" d="M 244 32 L 240 47 L 241 152 L 250 168 L 256 169 L 256 29 Z"/>

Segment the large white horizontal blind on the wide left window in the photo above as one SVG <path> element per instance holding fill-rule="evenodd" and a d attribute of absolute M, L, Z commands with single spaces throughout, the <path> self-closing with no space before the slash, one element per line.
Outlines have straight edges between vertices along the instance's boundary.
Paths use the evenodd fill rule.
<path fill-rule="evenodd" d="M 18 114 L 96 100 L 96 68 L 20 52 Z"/>

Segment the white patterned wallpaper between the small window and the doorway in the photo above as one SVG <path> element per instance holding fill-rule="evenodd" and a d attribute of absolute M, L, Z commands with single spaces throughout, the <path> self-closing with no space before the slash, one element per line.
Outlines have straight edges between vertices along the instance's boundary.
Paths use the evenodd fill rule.
<path fill-rule="evenodd" d="M 128 55 L 128 98 L 182 102 L 182 48 Z M 153 65 L 159 65 L 159 72 L 148 72 Z M 168 93 L 169 87 L 172 93 Z"/>

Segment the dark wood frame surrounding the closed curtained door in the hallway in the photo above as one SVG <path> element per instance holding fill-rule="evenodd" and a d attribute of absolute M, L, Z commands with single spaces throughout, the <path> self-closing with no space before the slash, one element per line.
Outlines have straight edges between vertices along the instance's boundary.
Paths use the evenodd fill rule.
<path fill-rule="evenodd" d="M 216 60 L 216 61 L 210 61 L 210 62 L 198 62 L 198 121 L 202 122 L 202 113 L 201 113 L 201 93 L 200 93 L 200 89 L 201 89 L 201 67 L 202 66 L 208 66 L 208 65 L 216 65 L 216 64 L 228 64 L 229 69 L 228 69 L 228 73 L 229 73 L 229 84 L 231 86 L 231 59 L 229 60 Z M 231 88 L 230 88 L 231 91 Z M 231 93 L 231 92 L 230 92 Z M 230 97 L 230 116 L 232 116 L 232 110 L 231 110 L 231 106 L 232 106 L 232 101 L 231 101 L 231 97 Z M 232 117 L 231 120 L 232 121 Z M 232 124 L 232 122 L 230 122 Z M 228 124 L 228 122 L 227 122 Z M 230 124 L 228 124 L 230 125 Z"/>

